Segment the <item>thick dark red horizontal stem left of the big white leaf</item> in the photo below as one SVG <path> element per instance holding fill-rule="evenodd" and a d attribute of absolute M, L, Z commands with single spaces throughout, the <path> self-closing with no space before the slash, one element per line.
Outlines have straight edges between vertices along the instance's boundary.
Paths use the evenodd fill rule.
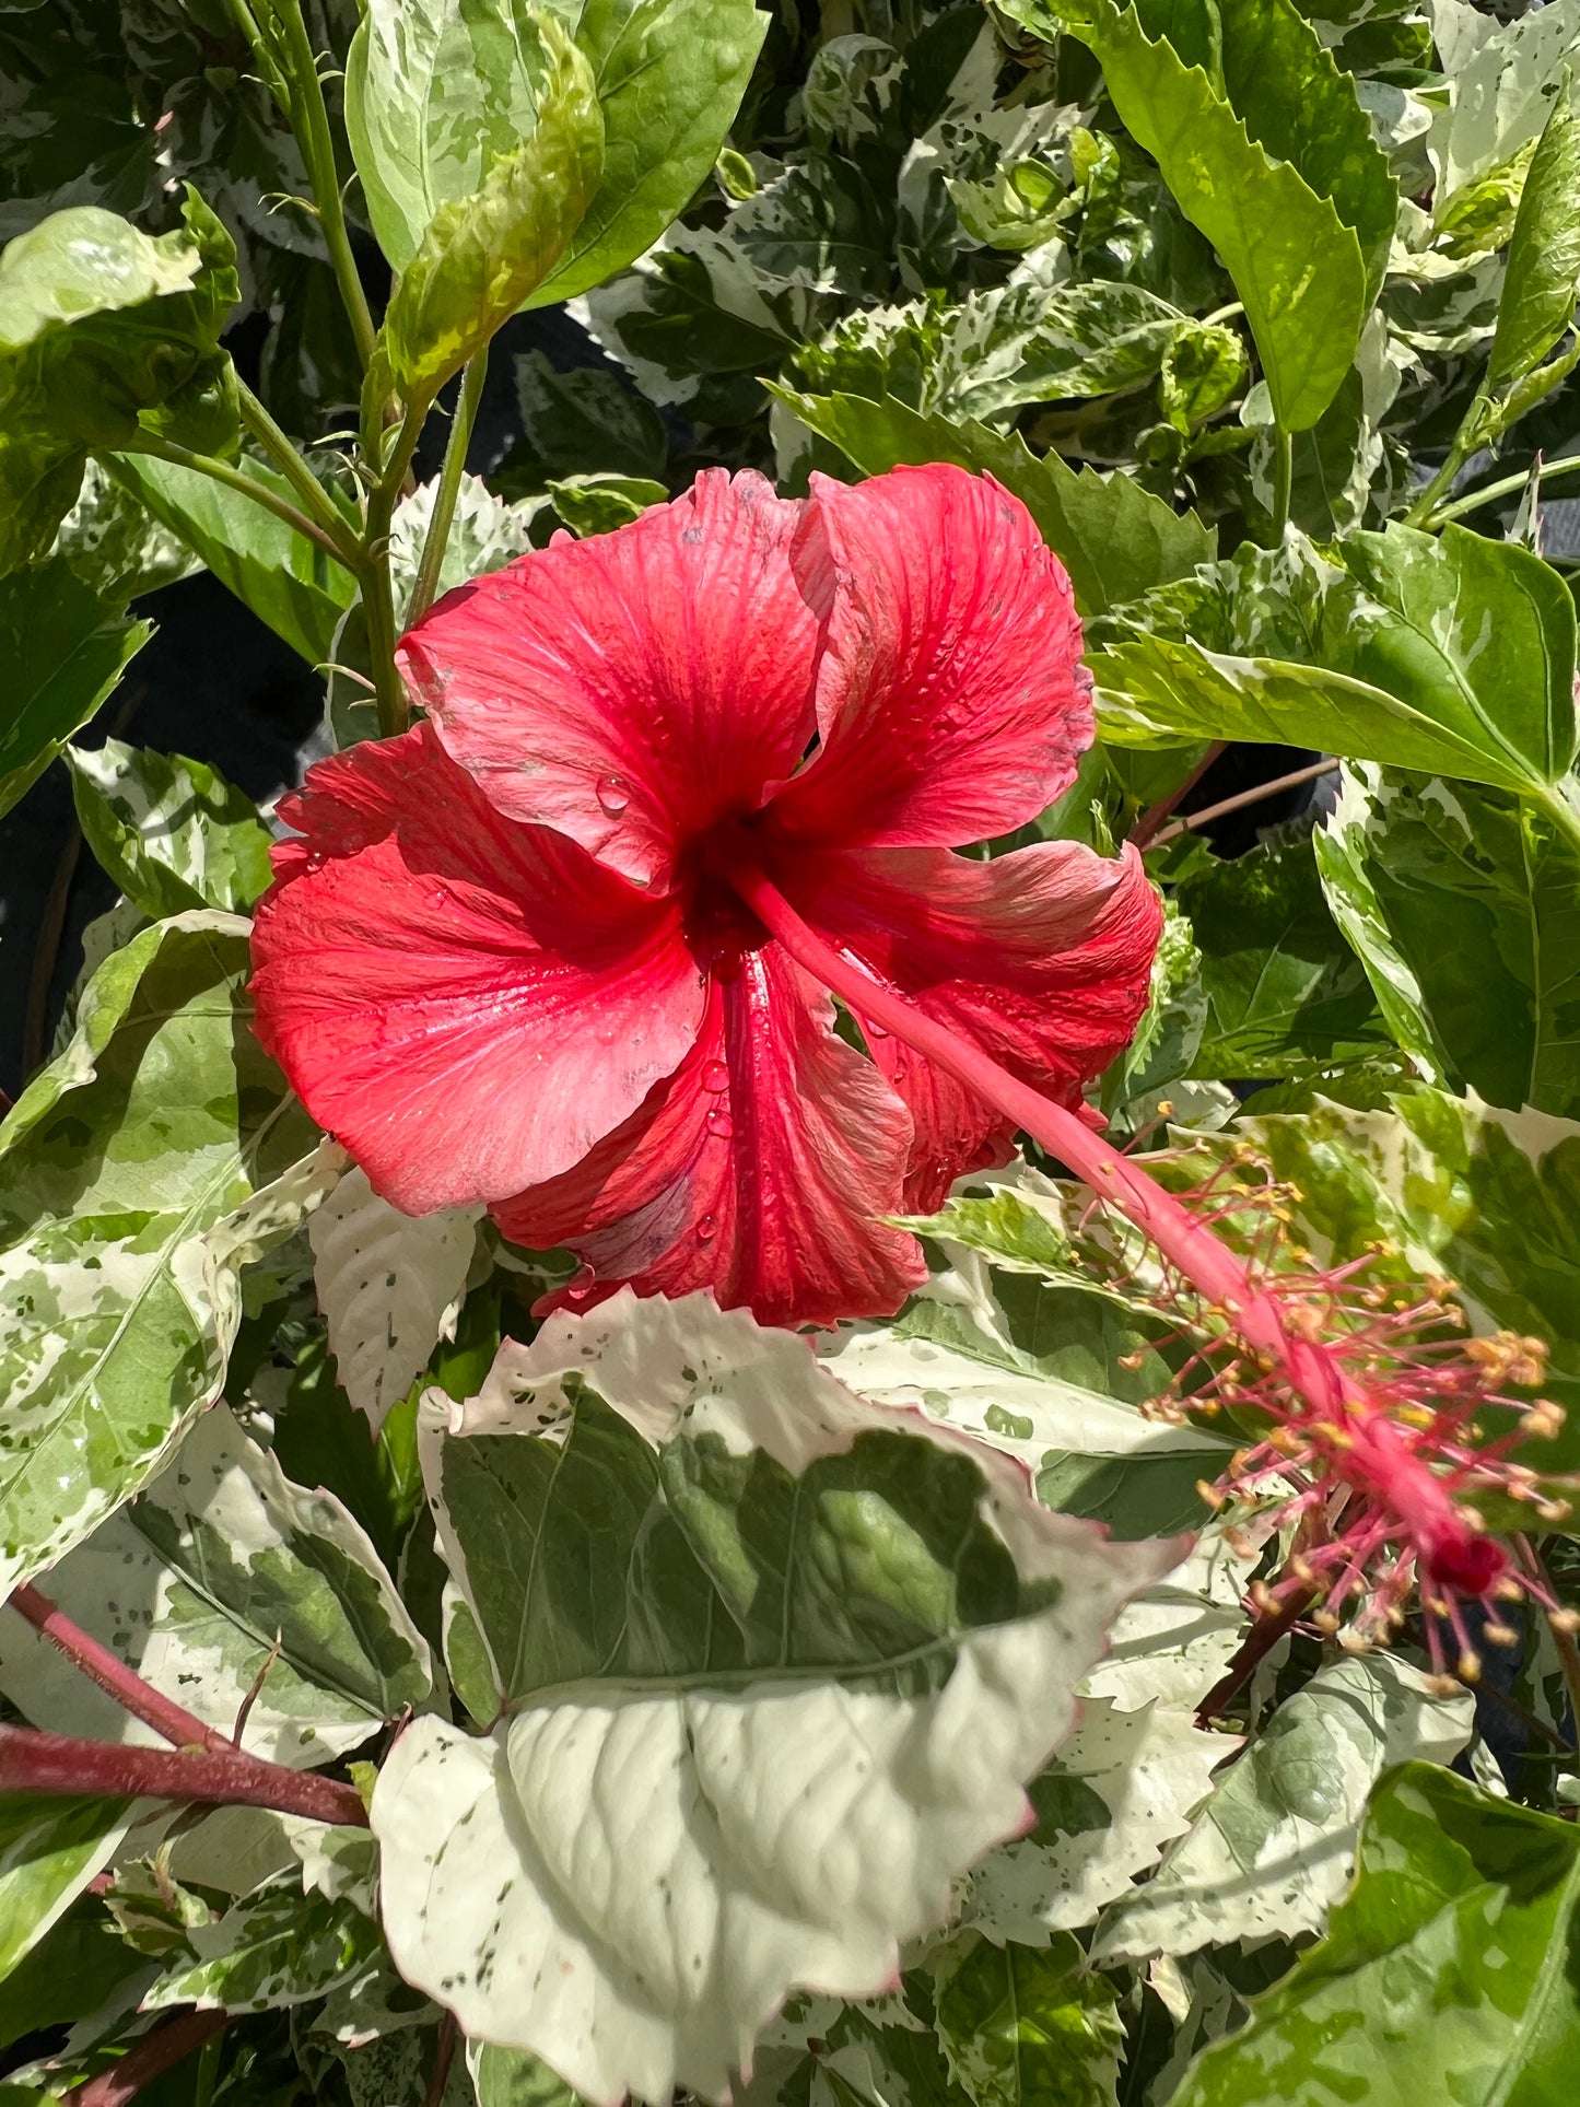
<path fill-rule="evenodd" d="M 0 1726 L 0 1793 L 61 1793 L 105 1799 L 190 1799 L 217 1808 L 274 1808 L 339 1829 L 367 1829 L 354 1785 L 259 1757 L 190 1749 L 131 1749 Z"/>

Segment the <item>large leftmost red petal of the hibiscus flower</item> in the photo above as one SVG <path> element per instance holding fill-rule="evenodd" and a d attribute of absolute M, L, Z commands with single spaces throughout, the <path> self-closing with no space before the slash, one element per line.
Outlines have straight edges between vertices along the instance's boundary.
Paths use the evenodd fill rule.
<path fill-rule="evenodd" d="M 680 910 L 503 820 L 423 725 L 280 807 L 257 1035 L 375 1190 L 428 1214 L 567 1169 L 685 1060 Z"/>

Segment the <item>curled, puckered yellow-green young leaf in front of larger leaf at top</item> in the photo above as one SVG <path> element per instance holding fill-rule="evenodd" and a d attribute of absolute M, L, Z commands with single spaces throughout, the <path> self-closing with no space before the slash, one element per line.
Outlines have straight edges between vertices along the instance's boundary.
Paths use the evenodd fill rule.
<path fill-rule="evenodd" d="M 501 329 L 565 255 L 603 171 L 596 80 L 550 15 L 537 17 L 544 86 L 531 137 L 495 154 L 470 196 L 434 211 L 383 316 L 379 358 L 409 405 Z"/>

